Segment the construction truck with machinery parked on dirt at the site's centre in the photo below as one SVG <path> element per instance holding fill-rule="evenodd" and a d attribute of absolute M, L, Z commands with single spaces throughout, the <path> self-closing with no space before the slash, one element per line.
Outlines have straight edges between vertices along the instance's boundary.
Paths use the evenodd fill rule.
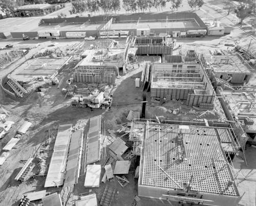
<path fill-rule="evenodd" d="M 105 93 L 101 92 L 98 95 L 89 95 L 83 97 L 82 95 L 75 95 L 71 98 L 71 106 L 77 108 L 108 108 L 112 105 L 112 97 L 105 96 Z"/>

